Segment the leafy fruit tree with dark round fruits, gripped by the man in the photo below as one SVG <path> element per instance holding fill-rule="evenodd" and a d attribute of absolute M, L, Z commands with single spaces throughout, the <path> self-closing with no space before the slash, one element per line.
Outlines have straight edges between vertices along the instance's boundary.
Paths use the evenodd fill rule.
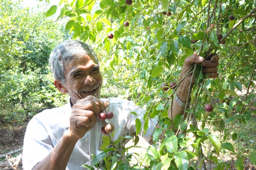
<path fill-rule="evenodd" d="M 58 6 L 53 5 L 46 16 L 57 10 Z M 154 145 L 148 148 L 144 158 L 146 166 L 194 169 L 204 167 L 207 161 L 216 163 L 217 169 L 223 169 L 230 163 L 221 162 L 218 155 L 227 151 L 237 154 L 237 168 L 243 167 L 244 157 L 249 157 L 255 164 L 255 151 L 243 155 L 234 147 L 234 141 L 239 142 L 241 137 L 234 126 L 249 124 L 255 114 L 249 107 L 255 97 L 255 2 L 61 0 L 59 10 L 57 20 L 69 18 L 65 30 L 72 32 L 72 38 L 92 43 L 104 63 L 102 70 L 107 78 L 104 85 L 110 88 L 114 80 L 114 85 L 123 89 L 120 94 L 126 94 L 145 108 L 145 122 L 153 117 L 159 120 L 161 128 L 153 133 Z M 229 17 L 231 15 L 233 17 Z M 125 22 L 129 22 L 128 27 L 124 26 Z M 109 38 L 110 33 L 113 37 Z M 170 120 L 166 108 L 171 105 L 176 89 L 163 92 L 161 84 L 179 83 L 177 77 L 181 65 L 194 52 L 202 57 L 218 53 L 221 56 L 219 77 L 206 80 L 201 65 L 194 65 L 191 72 L 196 77 L 196 85 L 191 89 L 191 105 L 186 108 L 188 117 L 177 115 Z M 110 74 L 109 69 L 114 73 Z M 124 85 L 120 86 L 121 83 Z M 236 90 L 243 88 L 247 92 L 240 97 Z M 214 110 L 206 112 L 206 104 L 212 105 Z M 137 129 L 147 130 L 147 123 L 136 123 Z M 159 135 L 166 129 L 165 138 L 161 140 Z M 120 138 L 114 144 L 121 147 L 123 139 L 132 138 L 136 145 L 138 133 L 135 137 Z M 192 136 L 188 135 L 190 133 Z M 110 140 L 104 138 L 107 144 L 111 141 L 109 137 Z M 212 145 L 209 153 L 203 147 L 207 142 Z M 107 152 L 109 150 L 104 147 L 102 150 L 105 152 L 95 156 L 91 166 L 97 167 L 103 159 L 106 169 L 143 168 L 142 165 L 129 165 L 132 154 L 127 154 L 127 160 L 122 161 L 119 158 L 124 153 Z M 126 152 L 128 148 L 124 150 Z M 112 164 L 108 161 L 111 159 Z"/>

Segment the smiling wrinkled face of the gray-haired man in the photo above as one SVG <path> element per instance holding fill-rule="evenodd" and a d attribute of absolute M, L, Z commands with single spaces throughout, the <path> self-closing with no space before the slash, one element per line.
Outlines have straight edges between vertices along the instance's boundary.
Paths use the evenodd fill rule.
<path fill-rule="evenodd" d="M 102 75 L 99 65 L 89 55 L 74 58 L 65 63 L 65 85 L 74 105 L 77 100 L 93 95 L 99 98 L 99 88 L 102 84 Z"/>

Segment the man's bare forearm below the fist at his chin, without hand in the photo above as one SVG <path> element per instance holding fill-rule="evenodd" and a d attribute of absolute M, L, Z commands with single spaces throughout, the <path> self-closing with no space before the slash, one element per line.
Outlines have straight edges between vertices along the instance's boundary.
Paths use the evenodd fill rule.
<path fill-rule="evenodd" d="M 33 170 L 65 170 L 77 140 L 66 131 L 54 149 Z"/>

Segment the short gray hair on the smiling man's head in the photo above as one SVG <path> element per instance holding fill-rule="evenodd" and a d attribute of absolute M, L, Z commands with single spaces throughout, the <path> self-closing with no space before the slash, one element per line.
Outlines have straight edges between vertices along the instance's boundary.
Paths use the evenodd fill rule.
<path fill-rule="evenodd" d="M 99 60 L 94 53 L 92 47 L 87 43 L 78 40 L 66 40 L 59 44 L 50 54 L 49 64 L 52 74 L 56 80 L 65 84 L 65 67 L 64 64 L 70 62 L 74 58 L 81 58 L 89 55 L 99 65 Z"/>

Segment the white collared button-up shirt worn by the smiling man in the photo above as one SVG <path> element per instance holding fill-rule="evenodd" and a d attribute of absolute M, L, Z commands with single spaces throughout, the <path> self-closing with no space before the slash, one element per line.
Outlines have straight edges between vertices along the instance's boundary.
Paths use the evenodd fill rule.
<path fill-rule="evenodd" d="M 136 134 L 135 119 L 139 118 L 142 122 L 144 110 L 137 107 L 133 102 L 119 98 L 101 99 L 109 101 L 106 110 L 114 113 L 112 119 L 106 122 L 114 125 L 116 132 L 112 138 L 113 141 L 124 135 L 132 136 Z M 35 115 L 28 123 L 24 137 L 22 163 L 24 170 L 31 170 L 35 165 L 42 161 L 55 147 L 57 142 L 62 138 L 64 132 L 69 128 L 69 117 L 72 108 L 70 102 L 62 107 L 47 109 Z M 137 116 L 130 112 L 137 113 Z M 148 142 L 154 127 L 157 125 L 156 120 L 149 121 L 149 128 L 142 137 Z M 86 169 L 82 165 L 90 165 L 93 155 L 101 153 L 100 146 L 103 134 L 100 129 L 102 121 L 98 120 L 94 127 L 84 137 L 78 140 L 70 156 L 66 170 Z M 143 132 L 144 133 L 144 132 Z M 141 132 L 139 133 L 141 134 Z"/>

